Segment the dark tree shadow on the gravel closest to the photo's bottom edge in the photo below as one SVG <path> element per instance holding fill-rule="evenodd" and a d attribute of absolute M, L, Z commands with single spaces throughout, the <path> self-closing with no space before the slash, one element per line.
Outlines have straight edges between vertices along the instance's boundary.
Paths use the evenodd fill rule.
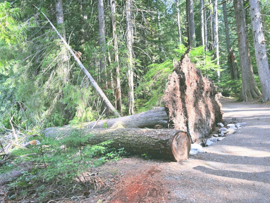
<path fill-rule="evenodd" d="M 240 171 L 214 170 L 211 168 L 207 168 L 205 166 L 196 166 L 193 169 L 211 175 L 217 175 L 228 178 L 245 179 L 248 181 L 258 181 L 270 184 L 270 171 L 249 173 Z"/>

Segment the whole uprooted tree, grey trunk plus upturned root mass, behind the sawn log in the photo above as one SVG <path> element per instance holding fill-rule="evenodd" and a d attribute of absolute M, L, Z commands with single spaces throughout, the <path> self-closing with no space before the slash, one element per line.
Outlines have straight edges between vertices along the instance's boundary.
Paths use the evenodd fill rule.
<path fill-rule="evenodd" d="M 222 120 L 221 104 L 212 81 L 203 77 L 187 56 L 174 62 L 173 74 L 168 78 L 163 96 L 164 107 L 115 119 L 83 123 L 83 128 L 164 128 L 190 132 L 192 142 L 210 134 Z M 69 126 L 72 127 L 72 126 Z"/>

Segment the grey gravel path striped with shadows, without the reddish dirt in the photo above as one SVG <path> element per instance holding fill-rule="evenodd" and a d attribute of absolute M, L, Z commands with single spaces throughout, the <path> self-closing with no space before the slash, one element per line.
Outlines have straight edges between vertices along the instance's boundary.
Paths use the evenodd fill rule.
<path fill-rule="evenodd" d="M 171 202 L 270 202 L 270 109 L 222 99 L 225 122 L 246 122 L 237 133 L 204 148 L 187 162 L 166 168 L 179 171 Z M 227 124 L 227 123 L 226 123 Z M 176 177 L 177 178 L 177 177 Z"/>

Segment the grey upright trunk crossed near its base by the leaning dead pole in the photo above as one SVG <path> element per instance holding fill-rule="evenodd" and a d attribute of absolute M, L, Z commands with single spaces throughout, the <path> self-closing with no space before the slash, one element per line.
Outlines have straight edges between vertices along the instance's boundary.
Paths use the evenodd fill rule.
<path fill-rule="evenodd" d="M 97 10 L 99 15 L 99 45 L 101 48 L 101 58 L 99 60 L 100 69 L 100 83 L 104 90 L 108 89 L 107 84 L 107 68 L 106 68 L 106 42 L 105 42 L 105 21 L 104 21 L 104 3 L 103 0 L 99 0 L 97 4 Z M 106 108 L 106 104 L 102 102 L 101 111 Z M 109 110 L 105 110 L 107 116 L 109 116 Z"/>

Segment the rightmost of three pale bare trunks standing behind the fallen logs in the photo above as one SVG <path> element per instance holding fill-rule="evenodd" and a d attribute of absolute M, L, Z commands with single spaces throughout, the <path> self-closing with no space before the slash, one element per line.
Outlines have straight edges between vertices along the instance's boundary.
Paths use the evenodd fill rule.
<path fill-rule="evenodd" d="M 132 0 L 126 1 L 126 29 L 127 29 L 127 48 L 128 48 L 128 70 L 127 84 L 129 86 L 128 112 L 134 114 L 134 84 L 133 84 L 133 23 L 132 23 Z"/>

